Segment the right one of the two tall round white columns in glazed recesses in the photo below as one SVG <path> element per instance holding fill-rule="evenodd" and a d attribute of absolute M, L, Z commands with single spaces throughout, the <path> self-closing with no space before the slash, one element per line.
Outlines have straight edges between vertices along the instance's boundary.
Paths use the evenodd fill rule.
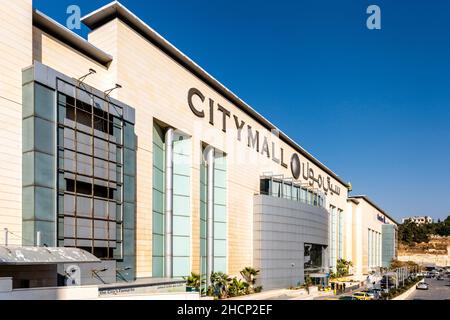
<path fill-rule="evenodd" d="M 214 148 L 206 150 L 208 170 L 207 182 L 207 229 L 206 229 L 206 277 L 207 287 L 210 285 L 210 276 L 214 271 Z"/>

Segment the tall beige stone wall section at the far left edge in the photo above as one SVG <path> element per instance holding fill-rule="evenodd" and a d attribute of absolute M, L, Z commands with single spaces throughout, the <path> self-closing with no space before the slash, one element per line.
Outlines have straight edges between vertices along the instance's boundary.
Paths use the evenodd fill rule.
<path fill-rule="evenodd" d="M 0 245 L 22 243 L 22 69 L 32 63 L 31 0 L 0 0 Z"/>

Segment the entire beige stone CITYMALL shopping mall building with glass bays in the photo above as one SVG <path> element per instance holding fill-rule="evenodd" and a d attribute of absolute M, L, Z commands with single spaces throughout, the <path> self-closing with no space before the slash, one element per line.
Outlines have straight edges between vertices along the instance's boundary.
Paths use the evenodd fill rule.
<path fill-rule="evenodd" d="M 110 281 L 253 266 L 266 289 L 395 257 L 387 213 L 120 3 L 82 19 L 87 40 L 31 0 L 0 17 L 9 247 L 82 249 Z"/>

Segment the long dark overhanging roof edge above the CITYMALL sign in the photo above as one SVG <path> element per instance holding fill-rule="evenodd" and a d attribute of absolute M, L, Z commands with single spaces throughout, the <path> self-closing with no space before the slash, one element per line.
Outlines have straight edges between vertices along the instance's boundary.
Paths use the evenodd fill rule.
<path fill-rule="evenodd" d="M 222 83 L 220 83 L 217 79 L 211 76 L 208 72 L 206 72 L 202 67 L 200 67 L 197 63 L 191 60 L 188 56 L 183 54 L 179 49 L 177 49 L 173 44 L 167 41 L 164 37 L 162 37 L 158 32 L 148 26 L 144 21 L 142 21 L 139 17 L 133 14 L 130 10 L 128 10 L 125 6 L 123 6 L 119 1 L 113 1 L 100 9 L 93 11 L 81 18 L 81 21 L 89 27 L 91 30 L 95 30 L 103 24 L 118 18 L 128 26 L 130 26 L 137 33 L 142 35 L 149 42 L 156 45 L 160 50 L 169 55 L 172 59 L 186 68 L 188 71 L 192 72 L 196 75 L 200 80 L 205 82 L 212 89 L 216 90 L 219 94 L 228 99 L 231 103 L 238 106 L 245 113 L 250 115 L 253 119 L 261 123 L 268 130 L 276 130 L 279 132 L 280 139 L 291 146 L 294 150 L 302 154 L 304 157 L 308 158 L 315 165 L 317 165 L 320 169 L 328 173 L 334 179 L 336 179 L 339 183 L 341 183 L 344 187 L 350 190 L 351 186 L 348 182 L 345 182 L 341 177 L 335 174 L 331 169 L 325 166 L 322 162 L 316 159 L 313 155 L 311 155 L 308 151 L 303 149 L 300 145 L 298 145 L 295 141 L 289 138 L 284 132 L 279 130 L 274 124 L 272 124 L 269 120 L 264 118 L 260 113 L 258 113 L 255 109 L 253 109 L 250 105 L 245 103 L 242 99 L 240 99 L 236 94 L 226 88 Z"/>

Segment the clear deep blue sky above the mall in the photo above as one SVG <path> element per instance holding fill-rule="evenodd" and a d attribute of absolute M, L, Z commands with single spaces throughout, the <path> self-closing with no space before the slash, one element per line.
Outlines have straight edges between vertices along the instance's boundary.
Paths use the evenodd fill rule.
<path fill-rule="evenodd" d="M 34 5 L 65 24 L 68 5 L 109 2 Z M 450 214 L 450 1 L 121 2 L 353 194 L 395 218 Z M 382 30 L 366 28 L 370 4 Z"/>

